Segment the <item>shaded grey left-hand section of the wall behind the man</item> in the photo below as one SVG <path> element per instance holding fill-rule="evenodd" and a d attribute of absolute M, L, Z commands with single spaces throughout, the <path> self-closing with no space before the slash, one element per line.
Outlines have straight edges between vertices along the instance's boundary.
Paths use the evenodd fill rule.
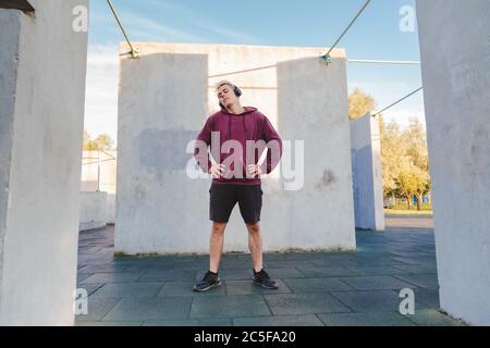
<path fill-rule="evenodd" d="M 210 184 L 186 174 L 187 144 L 207 117 L 207 75 L 204 54 L 121 60 L 117 252 L 208 251 Z"/>

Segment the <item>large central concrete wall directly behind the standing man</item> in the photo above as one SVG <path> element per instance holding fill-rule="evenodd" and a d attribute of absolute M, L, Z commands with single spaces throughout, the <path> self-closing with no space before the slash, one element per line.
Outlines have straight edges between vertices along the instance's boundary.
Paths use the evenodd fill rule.
<path fill-rule="evenodd" d="M 218 79 L 241 86 L 243 104 L 258 107 L 283 139 L 306 141 L 302 190 L 283 190 L 279 169 L 262 179 L 264 249 L 355 248 L 343 50 L 334 50 L 333 64 L 324 67 L 317 59 L 324 53 L 320 48 L 135 46 L 140 58 L 121 61 L 117 251 L 208 252 L 210 178 L 187 177 L 192 154 L 185 147 L 218 109 L 212 89 Z M 305 57 L 309 59 L 296 61 Z M 229 74 L 270 64 L 274 66 Z M 226 75 L 216 76 L 221 74 Z M 301 88 L 309 80 L 319 90 L 304 100 L 293 98 L 304 94 Z M 317 102 L 318 95 L 323 102 Z M 304 119 L 299 127 L 298 113 Z M 331 148 L 335 151 L 326 150 Z M 224 251 L 248 250 L 237 207 L 225 235 Z"/>

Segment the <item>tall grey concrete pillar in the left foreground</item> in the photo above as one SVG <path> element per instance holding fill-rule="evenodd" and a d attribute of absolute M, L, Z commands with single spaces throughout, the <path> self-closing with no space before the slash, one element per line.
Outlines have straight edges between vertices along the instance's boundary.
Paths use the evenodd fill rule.
<path fill-rule="evenodd" d="M 72 11 L 88 1 L 30 3 L 0 9 L 0 324 L 70 325 L 87 58 Z"/>

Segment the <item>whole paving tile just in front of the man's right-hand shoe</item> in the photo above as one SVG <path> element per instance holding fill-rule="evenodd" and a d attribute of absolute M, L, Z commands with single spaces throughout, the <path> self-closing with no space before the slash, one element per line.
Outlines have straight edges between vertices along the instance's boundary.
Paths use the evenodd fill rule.
<path fill-rule="evenodd" d="M 351 310 L 328 293 L 281 294 L 264 296 L 274 315 L 350 312 Z M 243 315 L 246 316 L 246 315 Z"/>

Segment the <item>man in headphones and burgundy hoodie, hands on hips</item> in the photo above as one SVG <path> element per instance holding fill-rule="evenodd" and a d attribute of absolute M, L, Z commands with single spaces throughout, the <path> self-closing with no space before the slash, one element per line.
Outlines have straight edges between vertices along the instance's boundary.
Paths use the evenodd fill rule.
<path fill-rule="evenodd" d="M 195 291 L 206 291 L 220 286 L 219 264 L 224 244 L 224 228 L 236 202 L 248 229 L 248 248 L 253 260 L 253 283 L 269 289 L 278 289 L 262 268 L 262 240 L 260 231 L 260 210 L 262 195 L 260 174 L 269 174 L 278 165 L 282 156 L 282 140 L 269 120 L 256 108 L 242 107 L 242 90 L 228 80 L 216 87 L 221 110 L 206 121 L 197 136 L 195 157 L 199 166 L 212 174 L 209 219 L 212 221 L 209 240 L 209 271 L 194 286 Z M 215 147 L 219 135 L 219 149 Z M 267 144 L 267 160 L 261 165 L 258 160 L 265 150 L 250 148 L 249 145 Z M 212 142 L 212 145 L 211 145 Z M 204 146 L 199 147 L 197 144 Z M 238 145 L 231 151 L 228 145 Z M 224 146 L 223 146 L 224 145 Z M 208 154 L 217 164 L 211 165 Z M 205 149 L 203 149 L 205 147 Z M 248 148 L 247 148 L 248 147 Z M 248 150 L 248 151 L 247 151 Z M 225 152 L 225 153 L 222 153 Z M 230 159 L 233 162 L 230 163 Z"/>

